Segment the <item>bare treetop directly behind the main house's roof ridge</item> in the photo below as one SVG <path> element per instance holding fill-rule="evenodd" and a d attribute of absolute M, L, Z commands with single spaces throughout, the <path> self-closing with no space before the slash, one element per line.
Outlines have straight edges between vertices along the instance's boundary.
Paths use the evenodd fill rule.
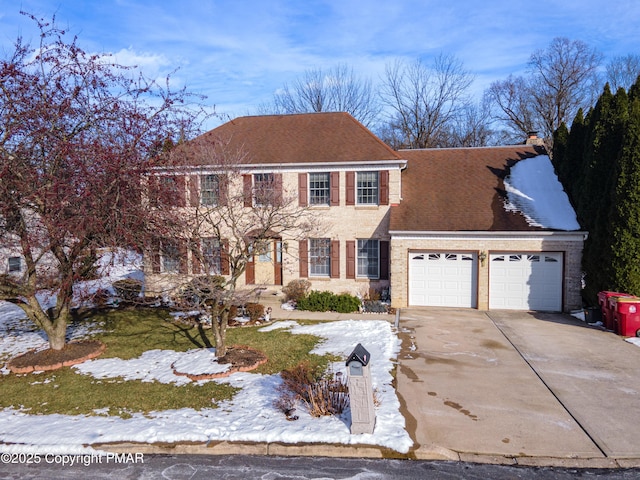
<path fill-rule="evenodd" d="M 357 77 L 353 68 L 339 64 L 327 71 L 307 70 L 291 85 L 285 84 L 265 113 L 347 112 L 365 126 L 380 113 L 371 80 Z"/>

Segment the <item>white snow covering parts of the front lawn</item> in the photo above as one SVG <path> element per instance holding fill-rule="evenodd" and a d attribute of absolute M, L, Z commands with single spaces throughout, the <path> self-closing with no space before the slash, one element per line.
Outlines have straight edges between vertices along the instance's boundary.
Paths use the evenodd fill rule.
<path fill-rule="evenodd" d="M 94 330 L 99 326 L 94 326 Z M 90 415 L 30 415 L 18 408 L 0 410 L 0 451 L 40 453 L 84 453 L 86 447 L 103 442 L 317 442 L 379 445 L 405 453 L 412 445 L 399 412 L 400 404 L 392 387 L 393 359 L 399 351 L 399 340 L 392 326 L 385 321 L 341 321 L 315 325 L 296 322 L 276 322 L 262 331 L 283 328 L 293 334 L 311 334 L 326 339 L 312 353 L 331 353 L 346 357 L 357 343 L 371 353 L 371 372 L 376 397 L 376 428 L 373 434 L 351 435 L 349 411 L 343 417 L 312 418 L 300 404 L 296 421 L 288 421 L 274 407 L 278 397 L 279 375 L 235 373 L 226 379 L 240 392 L 219 408 L 157 411 L 150 414 L 133 413 L 131 418 L 108 416 L 96 411 Z M 90 335 L 92 328 L 70 332 L 70 338 Z M 31 328 L 22 311 L 0 302 L 0 364 L 33 348 L 46 347 L 44 334 Z M 77 365 L 77 373 L 95 378 L 138 379 L 177 385 L 189 383 L 184 376 L 176 376 L 171 365 L 178 362 L 197 370 L 213 368 L 211 356 L 205 351 L 149 350 L 138 358 L 95 359 Z M 333 365 L 335 372 L 346 373 L 344 362 Z M 3 368 L 2 375 L 8 375 Z M 38 375 L 31 374 L 37 381 Z M 2 377 L 0 376 L 0 382 Z M 118 388 L 114 383 L 113 388 Z"/>

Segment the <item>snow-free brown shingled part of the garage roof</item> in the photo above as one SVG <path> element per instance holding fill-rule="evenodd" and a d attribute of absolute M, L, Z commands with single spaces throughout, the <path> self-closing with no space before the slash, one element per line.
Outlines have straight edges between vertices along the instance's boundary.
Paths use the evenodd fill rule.
<path fill-rule="evenodd" d="M 401 150 L 402 202 L 391 208 L 391 231 L 539 231 L 504 209 L 503 178 L 541 147 Z"/>

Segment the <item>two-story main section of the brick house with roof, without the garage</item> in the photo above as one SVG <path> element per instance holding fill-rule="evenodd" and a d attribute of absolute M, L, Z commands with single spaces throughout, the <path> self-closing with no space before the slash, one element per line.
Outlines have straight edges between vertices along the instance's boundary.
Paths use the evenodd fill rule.
<path fill-rule="evenodd" d="M 312 238 L 299 239 L 293 232 L 291 237 L 284 236 L 287 232 L 274 236 L 270 248 L 256 252 L 240 287 L 278 287 L 306 278 L 318 290 L 388 290 L 389 215 L 391 206 L 400 203 L 406 165 L 397 152 L 346 113 L 241 117 L 194 139 L 191 148 L 202 158 L 207 144 L 214 143 L 244 157 L 239 165 L 224 165 L 240 170 L 241 185 L 224 188 L 247 192 L 245 207 L 261 201 L 251 192 L 273 185 L 280 192 L 294 192 L 298 205 L 308 208 L 323 227 Z M 210 151 L 213 155 L 214 149 Z M 177 207 L 206 204 L 220 188 L 215 176 L 219 158 L 214 165 L 190 162 L 194 164 L 188 174 L 178 174 Z M 165 181 L 168 174 L 159 171 Z M 219 272 L 228 274 L 224 245 L 213 248 L 219 249 Z M 184 242 L 171 241 L 150 252 L 145 265 L 148 293 L 197 275 L 192 257 Z"/>

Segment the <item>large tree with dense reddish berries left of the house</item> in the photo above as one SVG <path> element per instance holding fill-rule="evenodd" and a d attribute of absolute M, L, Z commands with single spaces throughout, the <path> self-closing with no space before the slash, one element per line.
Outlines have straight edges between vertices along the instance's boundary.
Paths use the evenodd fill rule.
<path fill-rule="evenodd" d="M 184 91 L 85 53 L 43 20 L 0 60 L 0 241 L 25 268 L 0 275 L 51 349 L 65 345 L 76 282 L 105 246 L 141 246 L 150 217 L 140 176 L 167 138 L 187 135 Z M 46 288 L 54 305 L 41 305 Z"/>

